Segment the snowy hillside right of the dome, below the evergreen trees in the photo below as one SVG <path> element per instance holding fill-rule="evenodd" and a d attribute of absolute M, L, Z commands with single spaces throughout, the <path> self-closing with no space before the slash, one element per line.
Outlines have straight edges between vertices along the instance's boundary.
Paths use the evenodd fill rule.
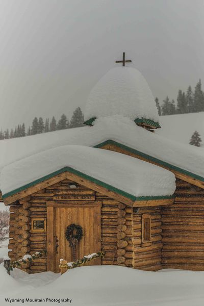
<path fill-rule="evenodd" d="M 192 134 L 197 131 L 204 146 L 204 112 L 181 115 L 168 115 L 159 118 L 161 129 L 157 134 L 181 143 L 189 143 Z"/>

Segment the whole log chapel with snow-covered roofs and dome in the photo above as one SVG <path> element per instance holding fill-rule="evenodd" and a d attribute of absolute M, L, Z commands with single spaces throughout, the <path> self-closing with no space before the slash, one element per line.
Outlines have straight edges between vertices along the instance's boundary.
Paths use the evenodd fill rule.
<path fill-rule="evenodd" d="M 104 250 L 90 264 L 204 270 L 204 156 L 159 128 L 148 84 L 123 66 L 91 90 L 84 127 L 2 140 L 11 261 L 46 249 L 24 270 L 58 273 Z"/>

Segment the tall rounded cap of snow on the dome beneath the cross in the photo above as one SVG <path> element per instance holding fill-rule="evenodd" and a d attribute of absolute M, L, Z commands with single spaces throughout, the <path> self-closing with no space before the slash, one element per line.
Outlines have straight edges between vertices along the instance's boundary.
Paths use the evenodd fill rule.
<path fill-rule="evenodd" d="M 152 92 L 143 75 L 135 68 L 116 67 L 109 70 L 89 94 L 85 121 L 114 115 L 132 120 L 159 120 Z"/>

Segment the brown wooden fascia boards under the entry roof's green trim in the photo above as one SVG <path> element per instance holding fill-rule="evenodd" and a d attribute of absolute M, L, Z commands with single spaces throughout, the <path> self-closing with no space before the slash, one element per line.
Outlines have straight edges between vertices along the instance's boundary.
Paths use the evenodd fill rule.
<path fill-rule="evenodd" d="M 22 186 L 12 192 L 3 195 L 3 199 L 6 205 L 13 203 L 19 199 L 27 197 L 33 193 L 36 193 L 44 188 L 52 186 L 65 179 L 76 182 L 81 186 L 88 187 L 99 193 L 103 193 L 117 201 L 120 201 L 129 206 L 158 206 L 169 205 L 172 203 L 174 196 L 141 196 L 136 197 L 132 194 L 117 189 L 111 185 L 94 179 L 93 177 L 86 175 L 78 170 L 70 167 L 64 167 L 54 173 L 46 175 L 39 180 L 36 180 L 30 184 Z"/>

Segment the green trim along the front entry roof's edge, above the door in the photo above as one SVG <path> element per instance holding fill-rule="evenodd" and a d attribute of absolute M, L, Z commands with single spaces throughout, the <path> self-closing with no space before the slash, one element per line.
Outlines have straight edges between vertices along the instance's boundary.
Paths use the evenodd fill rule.
<path fill-rule="evenodd" d="M 99 186 L 101 186 L 101 187 L 104 187 L 104 188 L 106 188 L 106 189 L 108 189 L 108 190 L 110 190 L 110 191 L 116 192 L 116 193 L 118 193 L 118 194 L 120 194 L 120 195 L 122 195 L 122 196 L 124 196 L 124 197 L 126 197 L 126 198 L 129 198 L 129 199 L 133 200 L 133 201 L 154 200 L 154 199 L 155 199 L 155 200 L 158 200 L 158 199 L 171 199 L 171 198 L 174 198 L 174 195 L 164 195 L 164 196 L 139 196 L 139 197 L 136 197 L 136 196 L 133 195 L 133 194 L 127 193 L 127 192 L 125 192 L 125 191 L 123 191 L 123 190 L 121 190 L 121 189 L 118 189 L 118 188 L 113 187 L 113 186 L 111 186 L 111 185 L 109 185 L 109 184 L 106 184 L 106 183 L 104 183 L 104 182 L 102 182 L 102 181 L 99 181 L 99 180 L 97 180 L 97 179 L 94 179 L 94 177 L 92 177 L 92 176 L 90 176 L 90 175 L 87 175 L 87 174 L 85 174 L 85 173 L 82 173 L 82 172 L 80 172 L 80 171 L 78 171 L 78 170 L 75 170 L 75 169 L 73 169 L 73 168 L 71 168 L 71 167 L 64 167 L 64 168 L 62 168 L 62 169 L 60 169 L 60 170 L 58 170 L 58 171 L 52 172 L 52 173 L 50 173 L 50 174 L 47 174 L 47 175 L 41 177 L 40 179 L 35 180 L 35 181 L 33 181 L 33 182 L 29 183 L 29 184 L 26 184 L 26 185 L 24 185 L 24 186 L 22 186 L 22 187 L 19 187 L 19 188 L 15 189 L 15 190 L 12 190 L 12 191 L 10 191 L 10 192 L 8 192 L 8 193 L 5 193 L 5 194 L 3 195 L 3 199 L 6 199 L 6 198 L 9 197 L 9 196 L 12 196 L 12 195 L 14 195 L 14 194 L 16 194 L 16 193 L 18 193 L 18 192 L 21 192 L 21 191 L 23 191 L 23 190 L 25 190 L 25 189 L 28 189 L 28 188 L 30 188 L 30 187 L 32 187 L 32 186 L 38 184 L 38 183 L 41 183 L 41 182 L 43 182 L 43 181 L 45 181 L 45 180 L 50 179 L 51 177 L 53 177 L 53 176 L 55 176 L 55 175 L 61 174 L 61 173 L 66 172 L 66 171 L 71 172 L 71 173 L 76 174 L 76 175 L 79 175 L 79 176 L 82 177 L 83 179 L 89 180 L 89 181 L 91 181 L 92 183 L 95 183 L 95 184 L 97 184 L 97 185 L 99 185 Z"/>

